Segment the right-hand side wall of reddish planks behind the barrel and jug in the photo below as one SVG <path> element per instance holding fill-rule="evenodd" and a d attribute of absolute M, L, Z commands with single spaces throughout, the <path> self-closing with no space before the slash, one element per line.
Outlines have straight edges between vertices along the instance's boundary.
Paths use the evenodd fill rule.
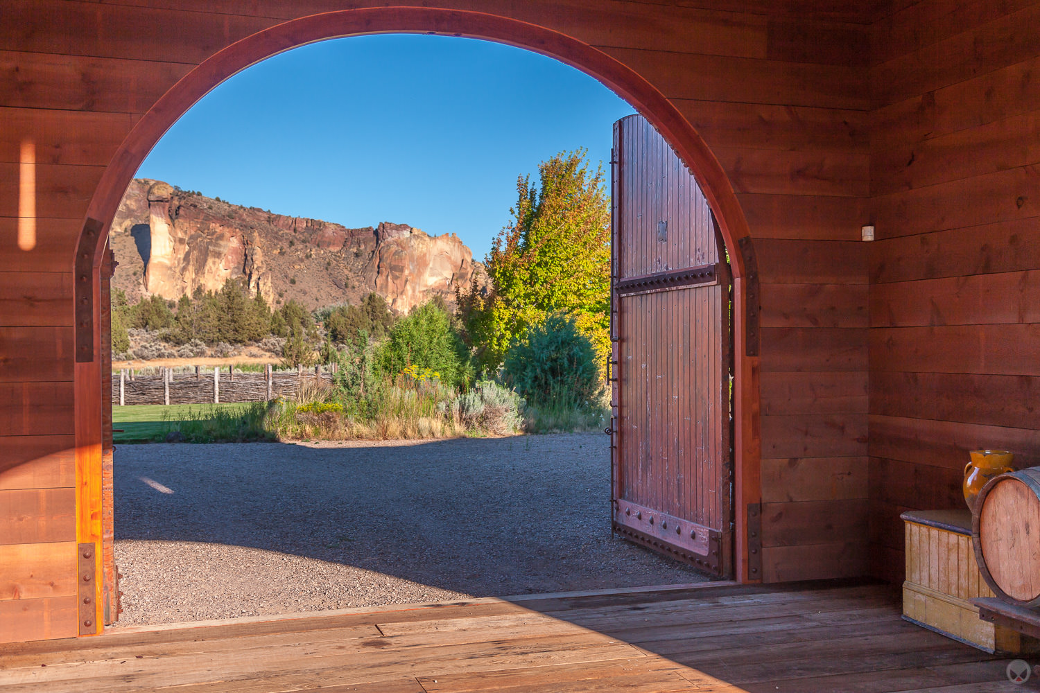
<path fill-rule="evenodd" d="M 967 451 L 1040 464 L 1040 4 L 925 0 L 870 30 L 872 572 Z"/>

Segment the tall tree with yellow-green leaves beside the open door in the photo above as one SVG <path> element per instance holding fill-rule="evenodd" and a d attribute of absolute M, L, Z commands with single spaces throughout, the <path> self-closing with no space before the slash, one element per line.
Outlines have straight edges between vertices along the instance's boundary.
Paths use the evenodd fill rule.
<path fill-rule="evenodd" d="M 459 316 L 476 365 L 495 370 L 510 346 L 546 316 L 565 312 L 601 356 L 609 351 L 610 203 L 602 165 L 587 152 L 539 164 L 539 183 L 517 181 L 513 220 L 492 245 L 492 290 L 459 296 Z"/>

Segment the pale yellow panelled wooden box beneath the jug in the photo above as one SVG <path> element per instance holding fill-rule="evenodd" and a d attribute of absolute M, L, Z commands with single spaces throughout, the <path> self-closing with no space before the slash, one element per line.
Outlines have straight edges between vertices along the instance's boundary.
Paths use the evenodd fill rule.
<path fill-rule="evenodd" d="M 906 528 L 903 618 L 987 652 L 1040 651 L 1040 640 L 979 618 L 971 599 L 993 596 L 979 574 L 967 510 L 913 510 Z"/>

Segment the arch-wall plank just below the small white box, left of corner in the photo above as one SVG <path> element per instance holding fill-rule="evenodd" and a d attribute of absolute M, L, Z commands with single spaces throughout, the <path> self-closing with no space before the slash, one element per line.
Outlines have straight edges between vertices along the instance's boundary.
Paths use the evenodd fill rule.
<path fill-rule="evenodd" d="M 857 226 L 856 233 L 859 234 Z M 862 241 L 755 241 L 762 284 L 866 284 L 868 244 Z M 762 287 L 762 293 L 769 287 Z"/>

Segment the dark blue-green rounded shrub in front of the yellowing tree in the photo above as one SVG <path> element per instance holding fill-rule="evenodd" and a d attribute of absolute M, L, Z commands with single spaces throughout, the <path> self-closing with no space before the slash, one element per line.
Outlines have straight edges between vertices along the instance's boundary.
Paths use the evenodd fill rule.
<path fill-rule="evenodd" d="M 602 393 L 595 358 L 574 319 L 554 313 L 505 354 L 505 382 L 535 406 L 592 405 Z"/>

